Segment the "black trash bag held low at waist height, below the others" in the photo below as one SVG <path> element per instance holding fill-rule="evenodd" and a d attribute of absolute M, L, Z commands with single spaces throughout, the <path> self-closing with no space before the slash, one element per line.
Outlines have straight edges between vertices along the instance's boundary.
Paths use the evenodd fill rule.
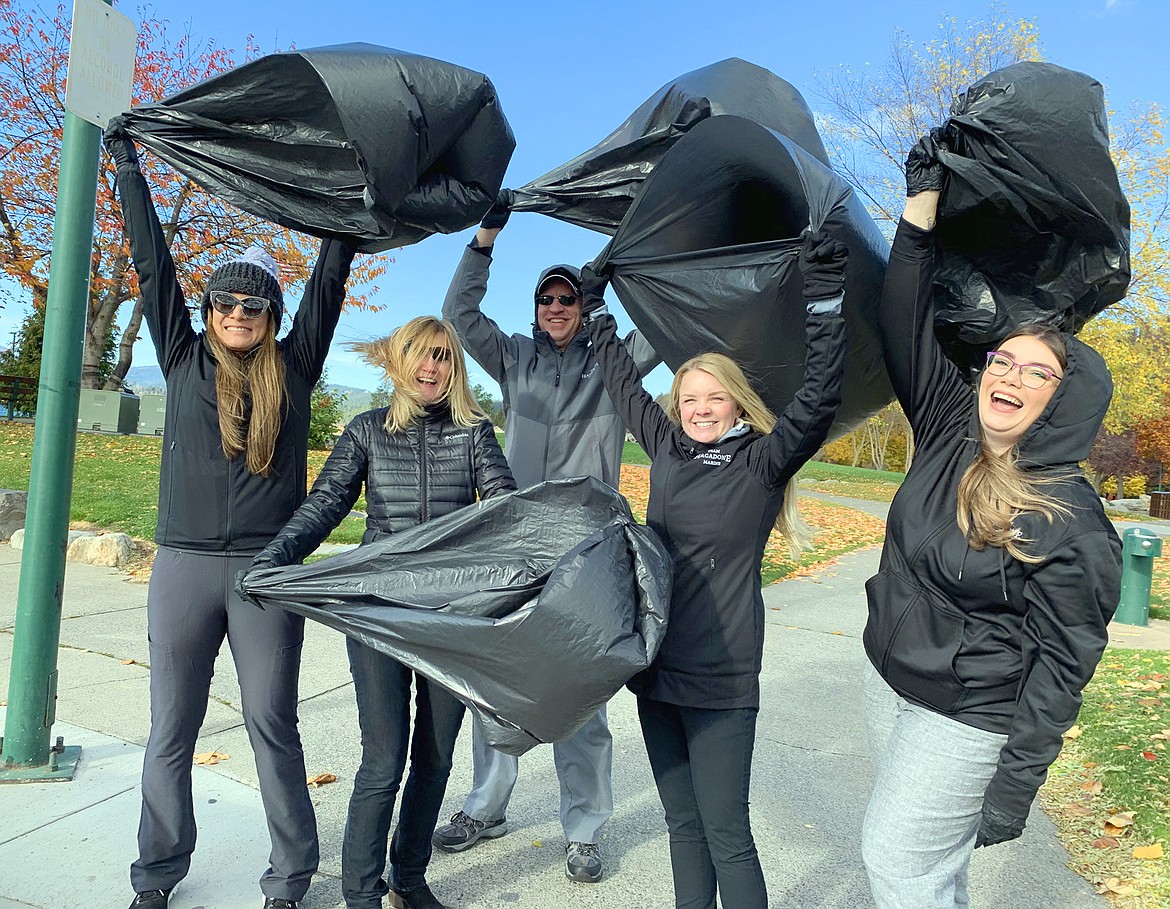
<path fill-rule="evenodd" d="M 496 496 L 246 592 L 442 686 L 522 755 L 572 736 L 666 633 L 670 557 L 592 477 Z"/>

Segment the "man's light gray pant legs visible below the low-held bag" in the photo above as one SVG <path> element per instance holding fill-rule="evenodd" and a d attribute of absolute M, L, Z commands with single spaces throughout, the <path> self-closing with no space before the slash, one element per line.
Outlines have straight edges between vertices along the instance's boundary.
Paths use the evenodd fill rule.
<path fill-rule="evenodd" d="M 552 746 L 552 762 L 560 781 L 560 826 L 567 842 L 597 842 L 603 825 L 613 814 L 613 737 L 605 708 L 577 734 Z M 472 791 L 463 813 L 493 821 L 508 813 L 519 759 L 491 748 L 480 723 L 472 724 Z"/>

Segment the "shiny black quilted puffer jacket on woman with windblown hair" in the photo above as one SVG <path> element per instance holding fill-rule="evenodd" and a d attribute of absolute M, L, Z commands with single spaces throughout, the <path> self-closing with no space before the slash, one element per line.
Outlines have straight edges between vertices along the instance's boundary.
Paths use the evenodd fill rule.
<path fill-rule="evenodd" d="M 391 435 L 380 407 L 353 418 L 309 497 L 256 560 L 290 565 L 312 552 L 366 490 L 363 543 L 516 489 L 491 423 L 456 426 L 432 405 L 415 426 Z"/>

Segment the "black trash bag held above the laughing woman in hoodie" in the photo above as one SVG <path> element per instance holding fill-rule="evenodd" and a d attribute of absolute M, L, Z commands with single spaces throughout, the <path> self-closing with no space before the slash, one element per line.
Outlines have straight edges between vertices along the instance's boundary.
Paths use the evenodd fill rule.
<path fill-rule="evenodd" d="M 935 329 L 952 360 L 982 366 L 1027 322 L 1075 332 L 1126 295 L 1129 204 L 1101 83 L 1016 63 L 969 88 L 945 132 Z"/>

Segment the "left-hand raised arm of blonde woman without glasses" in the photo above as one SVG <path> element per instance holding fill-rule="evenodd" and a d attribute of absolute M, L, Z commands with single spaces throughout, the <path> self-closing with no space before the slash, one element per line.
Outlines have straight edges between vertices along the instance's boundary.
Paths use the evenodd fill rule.
<path fill-rule="evenodd" d="M 605 309 L 606 280 L 586 266 L 581 269 L 581 307 L 590 333 L 593 357 L 601 370 L 601 381 L 626 428 L 654 460 L 670 438 L 670 418 L 642 387 L 641 372 L 626 345 L 618 337 L 618 323 Z"/>

